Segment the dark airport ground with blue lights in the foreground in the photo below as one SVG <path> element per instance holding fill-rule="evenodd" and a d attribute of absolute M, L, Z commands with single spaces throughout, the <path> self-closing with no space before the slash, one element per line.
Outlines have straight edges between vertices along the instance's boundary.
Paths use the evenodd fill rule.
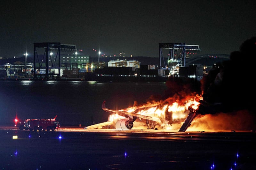
<path fill-rule="evenodd" d="M 0 169 L 250 170 L 255 141 L 255 132 L 0 127 Z"/>

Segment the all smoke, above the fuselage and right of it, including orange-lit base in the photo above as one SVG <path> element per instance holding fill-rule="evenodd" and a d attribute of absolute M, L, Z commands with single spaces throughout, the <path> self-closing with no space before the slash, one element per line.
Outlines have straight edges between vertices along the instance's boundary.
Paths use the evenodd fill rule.
<path fill-rule="evenodd" d="M 169 77 L 164 96 L 150 96 L 147 103 L 134 101 L 133 107 L 152 107 L 152 104 L 179 105 L 194 98 L 200 102 L 198 114 L 189 129 L 250 130 L 255 129 L 255 96 L 253 61 L 256 58 L 256 37 L 244 41 L 239 51 L 230 53 L 230 60 L 215 63 L 201 81 L 192 78 Z"/>

